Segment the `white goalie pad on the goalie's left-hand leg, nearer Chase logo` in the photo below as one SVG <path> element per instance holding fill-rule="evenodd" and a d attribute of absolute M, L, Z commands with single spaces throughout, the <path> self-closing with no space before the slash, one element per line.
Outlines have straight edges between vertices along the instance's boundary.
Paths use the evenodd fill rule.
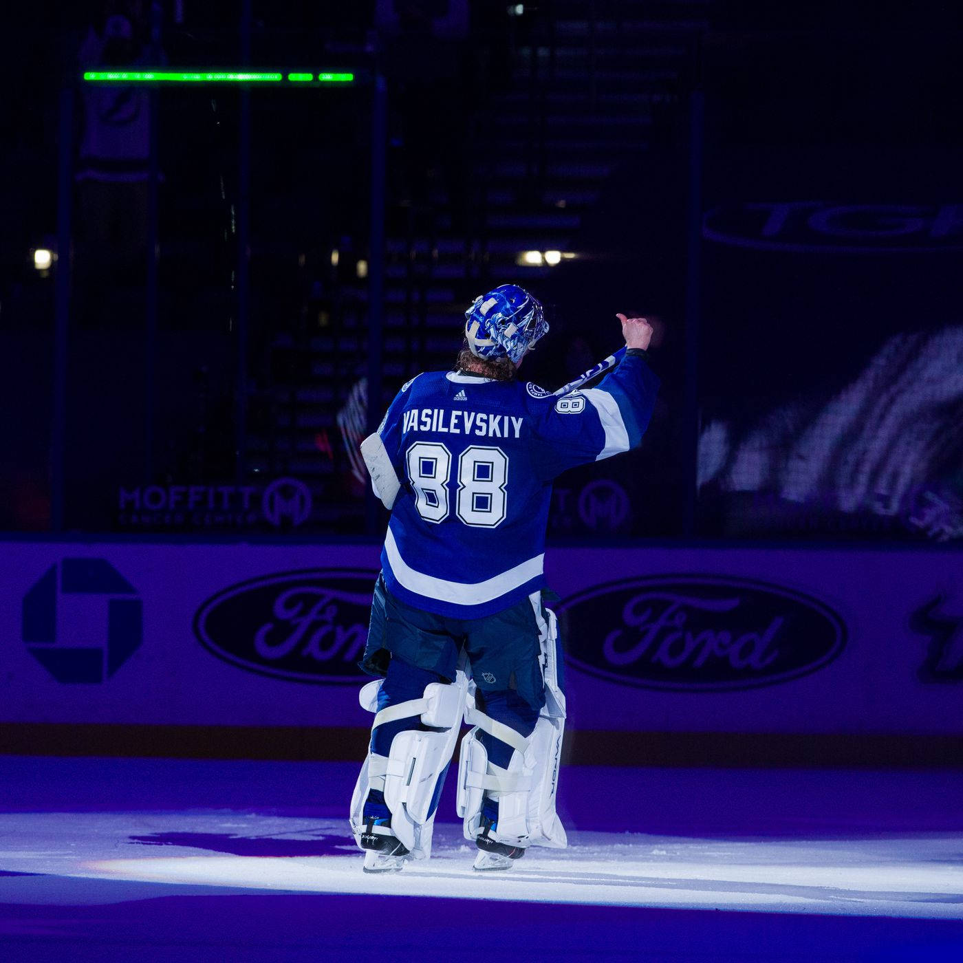
<path fill-rule="evenodd" d="M 359 701 L 369 712 L 377 709 L 381 681 L 369 683 Z M 369 752 L 361 767 L 351 797 L 351 831 L 359 841 L 364 831 L 364 803 L 369 790 L 380 790 L 391 813 L 391 833 L 415 859 L 427 859 L 431 852 L 434 814 L 429 815 L 435 787 L 455 752 L 468 680 L 458 670 L 455 682 L 431 683 L 420 699 L 382 709 L 372 728 L 402 718 L 419 716 L 421 721 L 442 732 L 405 730 L 391 742 L 387 756 Z M 359 842 L 360 845 L 360 842 Z"/>

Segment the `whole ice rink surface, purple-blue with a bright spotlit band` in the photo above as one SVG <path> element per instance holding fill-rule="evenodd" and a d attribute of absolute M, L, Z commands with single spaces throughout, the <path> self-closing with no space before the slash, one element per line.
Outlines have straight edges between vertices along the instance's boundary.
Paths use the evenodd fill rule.
<path fill-rule="evenodd" d="M 963 773 L 567 768 L 568 849 L 385 877 L 356 771 L 0 757 L 0 960 L 963 959 Z"/>

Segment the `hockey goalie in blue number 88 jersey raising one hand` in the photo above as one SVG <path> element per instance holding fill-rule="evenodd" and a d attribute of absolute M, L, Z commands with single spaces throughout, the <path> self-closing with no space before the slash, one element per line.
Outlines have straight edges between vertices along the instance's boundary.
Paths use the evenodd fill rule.
<path fill-rule="evenodd" d="M 545 528 L 552 481 L 629 451 L 651 417 L 652 327 L 616 317 L 621 363 L 593 388 L 553 395 L 517 377 L 548 332 L 542 305 L 515 285 L 495 288 L 465 313 L 455 369 L 408 381 L 362 443 L 391 509 L 362 663 L 376 678 L 361 705 L 375 717 L 351 799 L 366 872 L 429 858 L 462 722 L 471 729 L 457 813 L 478 848 L 475 869 L 507 870 L 529 846 L 566 845 L 556 815 L 565 695 L 543 600 Z"/>

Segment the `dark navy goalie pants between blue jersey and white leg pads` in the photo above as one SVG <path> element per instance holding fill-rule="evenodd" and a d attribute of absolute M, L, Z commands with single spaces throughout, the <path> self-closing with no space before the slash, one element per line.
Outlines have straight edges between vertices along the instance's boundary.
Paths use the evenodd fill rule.
<path fill-rule="evenodd" d="M 519 735 L 531 736 L 545 705 L 532 602 L 522 599 L 482 618 L 451 618 L 405 605 L 378 578 L 361 663 L 369 674 L 384 677 L 378 710 L 420 698 L 429 683 L 452 682 L 462 650 L 471 664 L 478 708 Z M 558 664 L 562 664 L 560 658 Z M 379 725 L 372 734 L 372 750 L 386 756 L 399 732 L 419 728 L 423 728 L 420 720 L 411 717 Z M 481 741 L 491 763 L 508 766 L 512 753 L 508 743 L 487 733 L 481 734 Z"/>

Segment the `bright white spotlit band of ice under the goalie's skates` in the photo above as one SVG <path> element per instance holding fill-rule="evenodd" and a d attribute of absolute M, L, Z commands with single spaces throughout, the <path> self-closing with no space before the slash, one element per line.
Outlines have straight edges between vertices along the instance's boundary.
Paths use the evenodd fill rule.
<path fill-rule="evenodd" d="M 0 815 L 0 844 L 7 872 L 231 891 L 963 919 L 963 839 L 933 833 L 735 840 L 576 831 L 567 849 L 533 849 L 508 872 L 484 875 L 472 871 L 473 847 L 453 823 L 437 826 L 430 860 L 390 876 L 361 872 L 345 820 L 11 813 Z M 23 889 L 16 879 L 0 877 L 7 901 Z"/>

